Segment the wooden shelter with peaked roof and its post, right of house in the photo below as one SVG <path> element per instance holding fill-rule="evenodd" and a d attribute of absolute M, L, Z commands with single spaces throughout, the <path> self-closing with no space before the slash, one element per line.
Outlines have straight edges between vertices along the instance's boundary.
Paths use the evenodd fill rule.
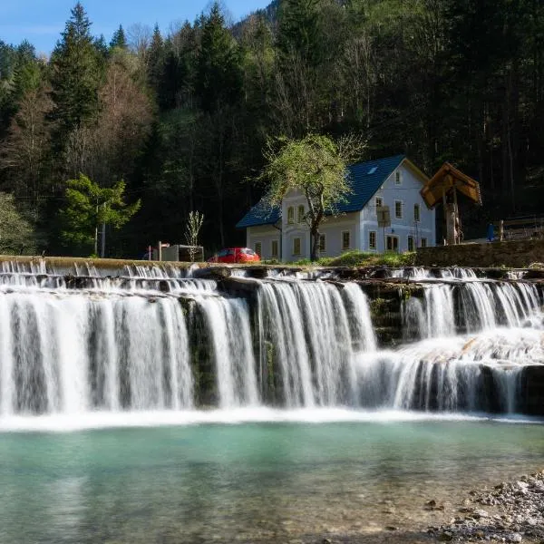
<path fill-rule="evenodd" d="M 467 197 L 474 204 L 481 206 L 480 184 L 470 176 L 457 170 L 449 162 L 444 162 L 440 170 L 432 176 L 421 190 L 425 204 L 435 208 L 442 202 L 446 221 L 446 239 L 448 245 L 459 244 L 461 241 L 461 219 L 457 193 Z"/>

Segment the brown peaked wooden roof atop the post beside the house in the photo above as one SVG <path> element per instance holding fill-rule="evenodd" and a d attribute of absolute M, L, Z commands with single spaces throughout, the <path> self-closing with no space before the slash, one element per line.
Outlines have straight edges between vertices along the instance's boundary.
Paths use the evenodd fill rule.
<path fill-rule="evenodd" d="M 440 170 L 423 186 L 420 194 L 425 204 L 429 208 L 434 208 L 442 202 L 445 195 L 455 189 L 459 190 L 475 204 L 481 205 L 480 183 L 463 174 L 461 170 L 457 170 L 449 162 L 442 164 Z"/>

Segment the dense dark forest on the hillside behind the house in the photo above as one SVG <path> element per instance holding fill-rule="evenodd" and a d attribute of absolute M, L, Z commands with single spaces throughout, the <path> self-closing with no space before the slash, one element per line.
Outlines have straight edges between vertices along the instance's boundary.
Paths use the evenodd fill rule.
<path fill-rule="evenodd" d="M 263 150 L 307 134 L 356 134 L 364 159 L 405 153 L 429 175 L 449 160 L 481 183 L 480 236 L 544 211 L 539 0 L 275 0 L 235 24 L 214 4 L 109 43 L 83 5 L 67 17 L 48 57 L 0 35 L 0 252 L 91 255 L 73 236 L 89 219 L 66 222 L 80 176 L 133 214 L 105 228 L 106 257 L 184 243 L 191 211 L 208 253 L 244 244 Z"/>

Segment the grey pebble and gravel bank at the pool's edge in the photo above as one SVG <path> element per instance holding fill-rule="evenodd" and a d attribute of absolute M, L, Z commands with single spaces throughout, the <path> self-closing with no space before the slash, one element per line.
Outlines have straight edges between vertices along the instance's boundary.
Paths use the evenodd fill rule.
<path fill-rule="evenodd" d="M 430 500 L 426 508 L 440 505 Z M 544 471 L 471 491 L 449 523 L 427 532 L 439 541 L 544 543 Z"/>

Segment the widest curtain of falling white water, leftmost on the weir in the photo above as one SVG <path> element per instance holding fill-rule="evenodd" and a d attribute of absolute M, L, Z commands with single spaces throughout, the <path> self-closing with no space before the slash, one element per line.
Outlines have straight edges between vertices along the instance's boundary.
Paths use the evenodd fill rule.
<path fill-rule="evenodd" d="M 0 294 L 2 413 L 190 408 L 175 298 Z"/>

